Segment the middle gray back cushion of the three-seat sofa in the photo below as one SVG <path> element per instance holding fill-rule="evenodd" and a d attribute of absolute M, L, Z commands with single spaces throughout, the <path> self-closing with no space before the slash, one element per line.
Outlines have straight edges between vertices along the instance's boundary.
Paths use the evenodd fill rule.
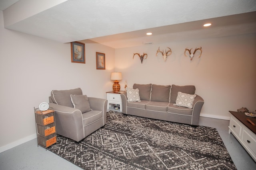
<path fill-rule="evenodd" d="M 152 94 L 151 94 L 150 101 L 169 103 L 170 88 L 171 88 L 170 85 L 162 86 L 162 85 L 152 84 Z"/>

